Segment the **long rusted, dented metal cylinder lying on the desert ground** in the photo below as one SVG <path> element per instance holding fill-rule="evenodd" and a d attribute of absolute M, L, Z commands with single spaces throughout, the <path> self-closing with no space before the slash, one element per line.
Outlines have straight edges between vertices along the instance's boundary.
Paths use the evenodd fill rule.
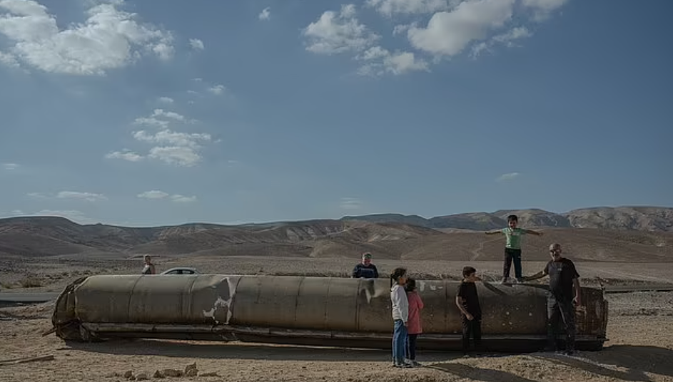
<path fill-rule="evenodd" d="M 425 302 L 419 347 L 457 348 L 459 284 L 417 282 Z M 544 285 L 477 283 L 477 291 L 487 346 L 543 346 Z M 600 349 L 607 301 L 600 289 L 583 287 L 582 296 L 587 309 L 577 316 L 577 346 Z M 131 336 L 390 347 L 393 329 L 387 279 L 221 274 L 78 279 L 59 296 L 52 321 L 56 335 L 77 341 Z"/>

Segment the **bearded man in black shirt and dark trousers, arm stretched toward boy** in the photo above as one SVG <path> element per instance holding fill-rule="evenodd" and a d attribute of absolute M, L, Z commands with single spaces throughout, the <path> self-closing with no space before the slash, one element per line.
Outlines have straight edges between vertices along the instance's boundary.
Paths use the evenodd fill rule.
<path fill-rule="evenodd" d="M 531 277 L 525 277 L 526 281 L 540 279 L 549 275 L 549 294 L 547 296 L 547 351 L 556 350 L 556 339 L 559 321 L 563 323 L 566 333 L 566 353 L 575 353 L 575 306 L 582 306 L 582 294 L 580 293 L 580 274 L 575 269 L 575 264 L 562 257 L 561 244 L 551 244 L 549 247 L 552 260 L 547 263 L 545 269 Z M 573 293 L 573 287 L 575 292 Z"/>

